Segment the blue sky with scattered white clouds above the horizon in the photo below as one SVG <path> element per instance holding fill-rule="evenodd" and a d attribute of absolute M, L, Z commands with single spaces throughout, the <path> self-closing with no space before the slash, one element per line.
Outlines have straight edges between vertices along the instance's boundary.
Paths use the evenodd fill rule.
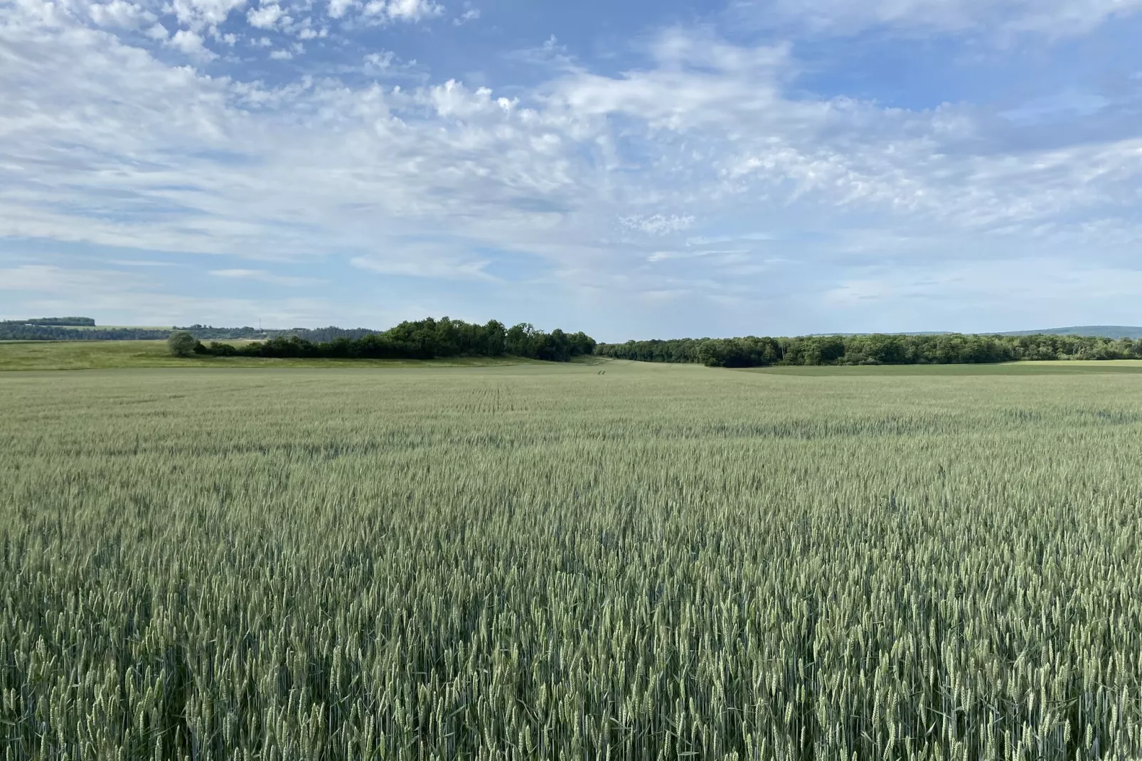
<path fill-rule="evenodd" d="M 1142 325 L 1142 0 L 0 0 L 0 319 Z"/>

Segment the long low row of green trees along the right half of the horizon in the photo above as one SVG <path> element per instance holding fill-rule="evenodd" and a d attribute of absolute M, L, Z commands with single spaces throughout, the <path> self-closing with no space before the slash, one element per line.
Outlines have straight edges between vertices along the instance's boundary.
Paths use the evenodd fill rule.
<path fill-rule="evenodd" d="M 770 365 L 951 365 L 1016 360 L 1142 359 L 1142 339 L 1094 336 L 853 335 L 799 338 L 678 338 L 598 344 L 595 353 L 708 367 Z"/>

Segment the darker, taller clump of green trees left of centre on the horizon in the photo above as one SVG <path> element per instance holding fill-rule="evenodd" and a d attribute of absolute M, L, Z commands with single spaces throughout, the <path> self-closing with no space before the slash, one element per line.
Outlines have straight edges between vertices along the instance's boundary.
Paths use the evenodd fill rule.
<path fill-rule="evenodd" d="M 530 323 L 505 328 L 497 320 L 475 325 L 445 317 L 440 320 L 428 318 L 416 322 L 405 321 L 395 328 L 360 338 L 340 336 L 328 342 L 312 342 L 300 336 L 278 336 L 239 346 L 218 342 L 204 345 L 199 342 L 193 351 L 215 357 L 337 359 L 509 355 L 566 362 L 573 357 L 590 354 L 594 349 L 595 341 L 585 333 L 569 334 L 560 329 L 544 333 Z"/>

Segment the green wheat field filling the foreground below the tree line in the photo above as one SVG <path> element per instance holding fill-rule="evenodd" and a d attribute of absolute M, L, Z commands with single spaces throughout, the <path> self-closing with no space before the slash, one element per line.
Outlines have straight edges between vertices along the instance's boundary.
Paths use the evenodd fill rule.
<path fill-rule="evenodd" d="M 5 759 L 1133 759 L 1142 376 L 0 374 Z"/>

